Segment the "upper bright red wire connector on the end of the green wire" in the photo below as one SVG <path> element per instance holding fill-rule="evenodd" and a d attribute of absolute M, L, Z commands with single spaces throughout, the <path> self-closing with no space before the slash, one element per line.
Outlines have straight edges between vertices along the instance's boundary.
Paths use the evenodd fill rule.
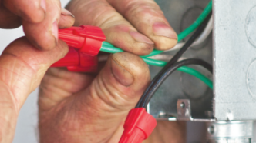
<path fill-rule="evenodd" d="M 101 28 L 82 25 L 80 27 L 59 29 L 59 39 L 62 39 L 70 47 L 79 48 L 79 52 L 94 56 L 99 53 L 106 37 Z"/>

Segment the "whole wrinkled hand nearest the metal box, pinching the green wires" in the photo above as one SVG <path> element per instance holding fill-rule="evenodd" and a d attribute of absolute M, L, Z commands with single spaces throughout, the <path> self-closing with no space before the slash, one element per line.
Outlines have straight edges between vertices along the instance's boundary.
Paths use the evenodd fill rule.
<path fill-rule="evenodd" d="M 137 55 L 149 54 L 155 45 L 164 50 L 177 43 L 176 33 L 153 1 L 109 3 L 73 0 L 67 6 L 77 26 L 103 28 L 106 41 L 126 52 L 111 55 L 99 75 L 62 68 L 47 71 L 39 94 L 42 143 L 118 142 L 128 111 L 150 81 L 149 69 Z M 147 142 L 184 142 L 185 128 L 184 122 L 158 121 Z"/>

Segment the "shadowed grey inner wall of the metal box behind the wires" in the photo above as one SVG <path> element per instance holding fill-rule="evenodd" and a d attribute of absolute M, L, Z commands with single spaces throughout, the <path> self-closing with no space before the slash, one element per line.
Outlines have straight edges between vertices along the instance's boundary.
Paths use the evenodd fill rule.
<path fill-rule="evenodd" d="M 163 10 L 167 20 L 173 29 L 180 33 L 187 28 L 204 10 L 208 0 L 156 0 Z M 187 38 L 185 39 L 187 41 Z M 174 55 L 176 52 L 168 52 Z M 205 42 L 196 47 L 190 48 L 185 54 L 186 58 L 201 58 L 212 63 L 212 41 L 211 36 Z M 193 66 L 211 78 L 211 74 L 204 68 Z M 159 67 L 150 66 L 151 77 L 153 78 Z M 150 114 L 157 119 L 169 119 L 175 121 L 177 118 L 177 100 L 190 99 L 192 117 L 206 117 L 205 113 L 212 113 L 212 90 L 202 81 L 191 75 L 175 71 L 173 75 L 161 85 L 157 93 L 150 101 Z"/>

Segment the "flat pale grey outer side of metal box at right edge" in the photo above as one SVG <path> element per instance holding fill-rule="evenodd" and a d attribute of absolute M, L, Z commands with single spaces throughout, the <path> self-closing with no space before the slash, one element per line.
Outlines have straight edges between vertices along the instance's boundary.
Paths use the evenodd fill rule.
<path fill-rule="evenodd" d="M 214 112 L 256 119 L 256 1 L 214 1 Z"/>

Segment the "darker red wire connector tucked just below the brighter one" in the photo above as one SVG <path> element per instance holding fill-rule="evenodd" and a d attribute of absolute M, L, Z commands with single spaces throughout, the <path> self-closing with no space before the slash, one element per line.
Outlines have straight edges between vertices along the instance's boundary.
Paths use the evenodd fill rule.
<path fill-rule="evenodd" d="M 67 67 L 69 71 L 94 72 L 97 71 L 98 58 L 78 52 L 75 48 L 69 48 L 65 57 L 51 67 Z"/>

